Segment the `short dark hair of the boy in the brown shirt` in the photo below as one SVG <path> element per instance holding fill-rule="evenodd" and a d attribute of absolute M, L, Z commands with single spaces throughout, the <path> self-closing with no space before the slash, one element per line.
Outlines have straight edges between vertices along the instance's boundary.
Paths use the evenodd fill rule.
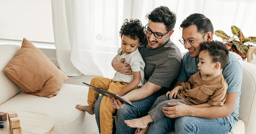
<path fill-rule="evenodd" d="M 225 69 L 228 63 L 228 48 L 221 41 L 204 41 L 200 43 L 200 51 L 207 50 L 212 62 L 219 62 L 220 68 Z"/>

